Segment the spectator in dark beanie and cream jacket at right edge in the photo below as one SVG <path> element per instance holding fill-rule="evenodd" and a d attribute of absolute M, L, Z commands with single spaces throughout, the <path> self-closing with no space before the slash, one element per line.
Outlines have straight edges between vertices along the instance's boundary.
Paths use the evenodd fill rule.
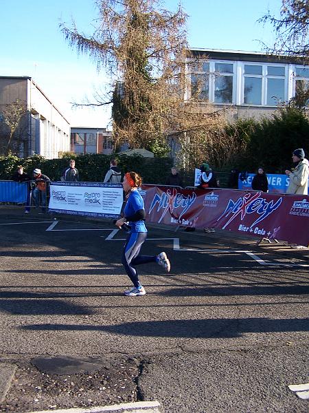
<path fill-rule="evenodd" d="M 308 195 L 309 162 L 304 149 L 295 149 L 292 159 L 294 168 L 292 171 L 286 169 L 286 175 L 290 178 L 286 193 Z"/>

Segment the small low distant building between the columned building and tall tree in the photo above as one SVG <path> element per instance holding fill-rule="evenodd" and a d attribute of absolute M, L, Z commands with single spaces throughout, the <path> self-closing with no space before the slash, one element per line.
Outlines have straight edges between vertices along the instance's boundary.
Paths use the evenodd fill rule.
<path fill-rule="evenodd" d="M 71 152 L 104 153 L 110 155 L 115 150 L 111 131 L 105 128 L 71 127 Z"/>

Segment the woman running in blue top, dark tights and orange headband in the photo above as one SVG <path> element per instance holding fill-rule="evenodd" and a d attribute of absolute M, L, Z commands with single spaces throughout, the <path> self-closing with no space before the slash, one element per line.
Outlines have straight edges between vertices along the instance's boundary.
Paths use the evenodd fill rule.
<path fill-rule="evenodd" d="M 122 186 L 126 193 L 126 207 L 124 208 L 124 217 L 117 220 L 115 224 L 120 228 L 128 222 L 130 226 L 130 231 L 122 253 L 122 264 L 134 285 L 130 290 L 124 291 L 124 295 L 145 295 L 146 290 L 139 282 L 139 276 L 135 266 L 148 262 L 157 262 L 157 264 L 163 266 L 165 271 L 169 273 L 170 261 L 164 252 L 152 256 L 139 255 L 141 246 L 147 237 L 144 200 L 141 198 L 139 191 L 137 191 L 137 188 L 141 186 L 141 177 L 136 172 L 127 172 L 124 175 Z"/>

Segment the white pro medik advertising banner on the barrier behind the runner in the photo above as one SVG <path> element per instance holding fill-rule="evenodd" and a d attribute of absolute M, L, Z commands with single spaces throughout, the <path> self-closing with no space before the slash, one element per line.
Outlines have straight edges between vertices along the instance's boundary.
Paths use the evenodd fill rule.
<path fill-rule="evenodd" d="M 92 217 L 117 217 L 122 209 L 121 184 L 51 182 L 49 211 Z"/>

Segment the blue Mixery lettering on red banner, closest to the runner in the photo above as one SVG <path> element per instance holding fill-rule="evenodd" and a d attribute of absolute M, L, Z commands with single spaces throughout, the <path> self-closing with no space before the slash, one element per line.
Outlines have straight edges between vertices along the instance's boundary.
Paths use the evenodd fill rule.
<path fill-rule="evenodd" d="M 185 197 L 182 193 L 178 193 L 176 188 L 168 189 L 166 192 L 161 193 L 161 195 L 159 193 L 155 194 L 150 205 L 149 213 L 157 207 L 157 212 L 162 211 L 161 218 L 158 221 L 161 222 L 168 211 L 172 214 L 174 209 L 176 209 L 177 213 L 180 211 L 180 220 L 192 204 L 194 204 L 195 200 L 196 193 Z"/>

